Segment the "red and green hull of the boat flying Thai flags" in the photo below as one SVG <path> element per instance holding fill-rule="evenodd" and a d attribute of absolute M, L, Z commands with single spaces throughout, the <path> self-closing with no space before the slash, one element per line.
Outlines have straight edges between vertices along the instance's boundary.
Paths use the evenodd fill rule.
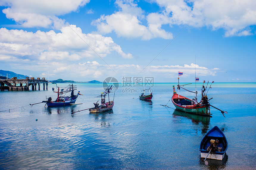
<path fill-rule="evenodd" d="M 201 116 L 210 116 L 211 114 L 208 112 L 209 107 L 207 106 L 194 106 L 192 105 L 192 100 L 189 98 L 186 98 L 184 96 L 178 95 L 177 93 L 174 93 L 171 98 L 172 103 L 174 104 L 174 107 L 176 107 L 177 110 L 181 110 L 183 112 L 188 112 L 196 115 Z"/>

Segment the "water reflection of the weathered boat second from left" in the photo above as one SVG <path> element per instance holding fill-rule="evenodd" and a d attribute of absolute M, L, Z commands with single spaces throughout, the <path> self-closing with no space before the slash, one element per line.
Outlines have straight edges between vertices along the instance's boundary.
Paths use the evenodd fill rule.
<path fill-rule="evenodd" d="M 99 113 L 90 113 L 90 115 L 94 115 L 95 118 L 94 118 L 94 121 L 96 123 L 100 123 L 101 126 L 104 126 L 104 127 L 109 127 L 111 126 L 110 122 L 108 122 L 108 120 L 110 120 L 108 118 L 108 115 L 110 114 L 113 114 L 113 110 L 107 110 L 107 111 L 104 111 L 104 112 L 99 112 Z"/>

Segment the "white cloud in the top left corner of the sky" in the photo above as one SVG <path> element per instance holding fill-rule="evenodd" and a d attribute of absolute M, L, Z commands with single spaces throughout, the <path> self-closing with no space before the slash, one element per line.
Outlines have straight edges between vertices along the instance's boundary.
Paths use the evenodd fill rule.
<path fill-rule="evenodd" d="M 77 11 L 90 0 L 1 0 L 1 6 L 7 6 L 3 13 L 25 28 L 43 27 L 60 29 L 65 20 L 56 16 Z"/>

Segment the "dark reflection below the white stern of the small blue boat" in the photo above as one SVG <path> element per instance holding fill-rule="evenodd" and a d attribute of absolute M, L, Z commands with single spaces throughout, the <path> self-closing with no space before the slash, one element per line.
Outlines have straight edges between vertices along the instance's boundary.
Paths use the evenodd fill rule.
<path fill-rule="evenodd" d="M 208 165 L 206 166 L 204 163 L 205 158 L 201 158 L 201 155 L 199 156 L 199 165 L 201 169 L 209 169 L 209 170 L 221 170 L 221 169 L 226 169 L 227 168 L 227 160 L 228 160 L 228 155 L 225 153 L 225 156 L 223 160 L 216 160 L 216 159 L 207 159 Z"/>

